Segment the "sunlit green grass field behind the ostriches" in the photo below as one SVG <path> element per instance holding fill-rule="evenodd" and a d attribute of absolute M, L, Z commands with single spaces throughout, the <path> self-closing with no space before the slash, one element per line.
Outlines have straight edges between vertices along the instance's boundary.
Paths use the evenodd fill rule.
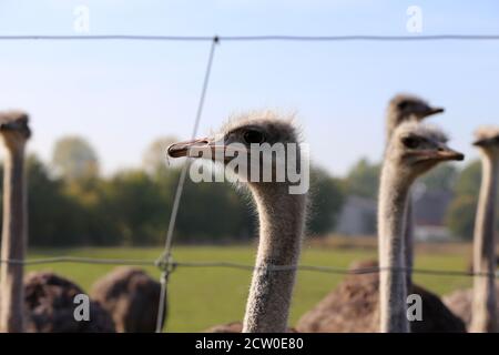
<path fill-rule="evenodd" d="M 427 248 L 427 247 L 425 247 Z M 465 270 L 467 255 L 461 251 L 441 250 L 418 253 L 417 267 L 440 270 Z M 174 258 L 179 262 L 226 261 L 252 264 L 255 248 L 248 246 L 175 246 Z M 110 257 L 110 258 L 145 258 L 155 260 L 161 248 L 59 248 L 32 250 L 30 258 L 58 255 Z M 347 267 L 355 260 L 373 258 L 374 247 L 309 245 L 303 253 L 302 263 Z M 68 276 L 85 291 L 90 291 L 93 282 L 115 266 L 89 264 L 50 264 L 29 266 L 29 271 L 53 271 Z M 154 277 L 160 272 L 146 267 Z M 242 320 L 245 298 L 249 285 L 249 271 L 207 267 L 179 267 L 171 276 L 169 332 L 200 332 L 211 325 Z M 302 271 L 298 274 L 293 301 L 291 322 L 313 307 L 343 278 L 342 275 Z M 427 288 L 445 294 L 455 288 L 469 286 L 468 277 L 416 275 L 416 282 Z"/>

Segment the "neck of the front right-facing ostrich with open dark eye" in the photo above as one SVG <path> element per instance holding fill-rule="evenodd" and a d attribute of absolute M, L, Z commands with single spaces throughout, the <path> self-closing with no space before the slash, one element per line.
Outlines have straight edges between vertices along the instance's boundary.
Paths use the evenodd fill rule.
<path fill-rule="evenodd" d="M 407 285 L 404 262 L 405 211 L 410 181 L 396 166 L 385 164 L 379 189 L 379 302 L 380 331 L 408 333 Z M 396 270 L 396 271 L 394 271 Z"/>

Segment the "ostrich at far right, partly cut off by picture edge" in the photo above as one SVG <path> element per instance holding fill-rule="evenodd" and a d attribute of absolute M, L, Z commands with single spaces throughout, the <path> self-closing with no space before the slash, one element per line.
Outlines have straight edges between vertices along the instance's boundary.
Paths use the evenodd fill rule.
<path fill-rule="evenodd" d="M 495 280 L 496 271 L 496 197 L 499 183 L 499 128 L 481 128 L 473 143 L 481 153 L 482 180 L 473 235 L 472 290 L 459 290 L 446 297 L 446 302 L 469 324 L 475 333 L 499 331 L 497 296 L 499 288 Z"/>

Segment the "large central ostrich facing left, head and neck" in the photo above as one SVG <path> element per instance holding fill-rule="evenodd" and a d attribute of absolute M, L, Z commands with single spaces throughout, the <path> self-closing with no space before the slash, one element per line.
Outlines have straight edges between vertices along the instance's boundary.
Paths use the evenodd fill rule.
<path fill-rule="evenodd" d="M 227 172 L 236 173 L 243 181 L 247 180 L 246 186 L 253 194 L 259 217 L 259 244 L 243 332 L 283 333 L 287 327 L 296 275 L 294 266 L 298 263 L 304 233 L 307 194 L 292 194 L 289 189 L 295 184 L 289 182 L 287 174 L 284 182 L 277 182 L 277 179 L 273 179 L 272 182 L 265 182 L 265 180 L 261 182 L 262 179 L 247 178 L 253 178 L 255 172 L 258 174 L 257 178 L 261 178 L 261 168 L 271 168 L 272 175 L 277 175 L 277 169 L 282 168 L 284 163 L 278 158 L 274 161 L 272 152 L 265 150 L 262 154 L 263 160 L 254 163 L 255 158 L 262 158 L 255 145 L 261 146 L 262 144 L 261 148 L 263 148 L 267 144 L 276 146 L 276 143 L 282 143 L 288 158 L 287 161 L 289 162 L 291 156 L 292 164 L 302 163 L 303 153 L 297 144 L 299 143 L 298 133 L 291 120 L 284 120 L 277 113 L 264 111 L 251 112 L 233 120 L 223 128 L 217 136 L 222 136 L 222 139 L 210 138 L 173 144 L 169 148 L 169 154 L 172 158 L 192 155 L 191 150 L 194 148 L 205 152 L 230 153 L 233 144 L 238 145 L 240 155 L 237 158 L 243 156 L 244 163 L 237 169 L 237 172 L 230 168 L 235 159 L 225 156 L 224 163 Z M 296 148 L 297 154 L 292 154 L 291 146 Z M 194 156 L 196 155 L 194 154 Z M 265 161 L 266 158 L 272 160 L 272 164 L 262 166 L 261 161 Z M 247 171 L 247 174 L 243 173 L 244 170 Z M 303 172 L 303 165 L 301 165 L 301 170 Z M 286 169 L 286 172 L 289 173 L 289 169 Z M 265 175 L 265 171 L 263 174 Z M 278 266 L 292 267 L 278 270 Z"/>

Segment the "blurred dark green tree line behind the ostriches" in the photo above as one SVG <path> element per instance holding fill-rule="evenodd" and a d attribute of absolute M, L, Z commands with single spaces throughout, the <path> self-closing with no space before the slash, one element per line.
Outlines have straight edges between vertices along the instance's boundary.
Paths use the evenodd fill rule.
<path fill-rule="evenodd" d="M 95 150 L 82 138 L 68 136 L 54 146 L 52 160 L 35 154 L 26 161 L 29 243 L 33 246 L 159 245 L 164 241 L 181 164 L 167 164 L 162 138 L 145 151 L 143 164 L 110 176 L 100 172 Z M 335 230 L 345 197 L 376 199 L 379 164 L 361 159 L 345 178 L 313 166 L 308 234 Z M 448 211 L 452 233 L 471 239 L 480 185 L 480 164 L 462 171 L 441 166 L 424 180 L 427 189 L 454 191 Z M 189 179 L 177 215 L 175 241 L 183 243 L 244 242 L 256 235 L 256 214 L 244 190 L 225 183 Z"/>

